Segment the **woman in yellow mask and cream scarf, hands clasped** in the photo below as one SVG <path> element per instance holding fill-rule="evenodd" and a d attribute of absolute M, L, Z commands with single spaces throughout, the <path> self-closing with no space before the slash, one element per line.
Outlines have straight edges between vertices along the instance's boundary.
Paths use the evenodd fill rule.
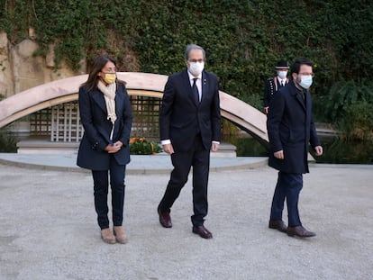
<path fill-rule="evenodd" d="M 101 238 L 106 243 L 125 243 L 123 224 L 125 167 L 130 162 L 132 108 L 125 83 L 116 78 L 115 60 L 98 57 L 86 83 L 79 88 L 79 112 L 84 135 L 77 166 L 91 169 L 95 208 Z M 112 189 L 113 232 L 109 228 L 108 174 Z"/>

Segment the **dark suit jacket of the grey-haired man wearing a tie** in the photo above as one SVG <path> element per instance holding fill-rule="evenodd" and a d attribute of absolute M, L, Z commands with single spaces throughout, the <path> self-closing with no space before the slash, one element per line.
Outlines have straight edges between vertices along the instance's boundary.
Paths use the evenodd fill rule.
<path fill-rule="evenodd" d="M 159 112 L 160 140 L 171 140 L 175 151 L 191 148 L 197 131 L 205 149 L 213 140 L 221 140 L 221 115 L 218 78 L 202 73 L 202 99 L 192 93 L 187 69 L 168 77 Z"/>

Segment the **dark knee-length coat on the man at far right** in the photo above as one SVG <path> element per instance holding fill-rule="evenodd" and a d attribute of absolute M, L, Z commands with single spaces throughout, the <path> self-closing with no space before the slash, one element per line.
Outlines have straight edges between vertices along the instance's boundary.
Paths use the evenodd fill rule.
<path fill-rule="evenodd" d="M 267 130 L 269 138 L 268 165 L 277 170 L 304 174 L 308 173 L 308 144 L 320 146 L 320 140 L 312 117 L 311 95 L 296 88 L 293 81 L 281 88 L 269 104 Z M 275 158 L 273 153 L 284 150 L 284 159 Z"/>

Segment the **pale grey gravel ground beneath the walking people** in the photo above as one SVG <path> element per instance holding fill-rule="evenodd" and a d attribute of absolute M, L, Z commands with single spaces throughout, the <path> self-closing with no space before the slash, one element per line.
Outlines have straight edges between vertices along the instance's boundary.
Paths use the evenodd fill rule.
<path fill-rule="evenodd" d="M 156 208 L 168 172 L 129 172 L 129 242 L 108 245 L 89 173 L 2 163 L 0 279 L 373 279 L 373 166 L 310 169 L 299 206 L 315 238 L 269 230 L 277 172 L 241 165 L 210 174 L 205 226 L 213 239 L 192 233 L 191 180 L 172 209 L 173 228 L 164 229 Z"/>

